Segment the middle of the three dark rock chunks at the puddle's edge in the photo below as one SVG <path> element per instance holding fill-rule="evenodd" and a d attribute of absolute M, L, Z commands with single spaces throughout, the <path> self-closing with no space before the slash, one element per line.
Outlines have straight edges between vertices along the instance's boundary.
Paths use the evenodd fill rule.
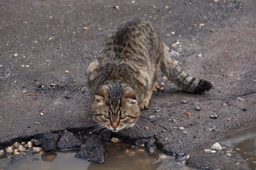
<path fill-rule="evenodd" d="M 62 150 L 79 148 L 81 145 L 82 142 L 72 132 L 67 130 L 64 130 L 57 144 L 58 148 Z"/>

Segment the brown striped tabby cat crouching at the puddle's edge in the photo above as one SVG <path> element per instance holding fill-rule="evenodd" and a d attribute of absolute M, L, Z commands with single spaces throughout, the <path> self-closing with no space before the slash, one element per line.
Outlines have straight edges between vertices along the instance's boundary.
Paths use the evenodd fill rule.
<path fill-rule="evenodd" d="M 159 67 L 183 91 L 202 93 L 212 88 L 210 82 L 187 75 L 171 60 L 148 20 L 121 23 L 87 70 L 93 119 L 113 132 L 132 127 L 140 109 L 148 108 Z"/>

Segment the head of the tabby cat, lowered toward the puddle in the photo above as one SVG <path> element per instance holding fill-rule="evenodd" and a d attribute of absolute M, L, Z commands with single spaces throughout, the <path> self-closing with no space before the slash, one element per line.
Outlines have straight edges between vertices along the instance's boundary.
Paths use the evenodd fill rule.
<path fill-rule="evenodd" d="M 132 127 L 139 118 L 139 106 L 131 88 L 103 86 L 94 95 L 93 119 L 117 132 Z"/>

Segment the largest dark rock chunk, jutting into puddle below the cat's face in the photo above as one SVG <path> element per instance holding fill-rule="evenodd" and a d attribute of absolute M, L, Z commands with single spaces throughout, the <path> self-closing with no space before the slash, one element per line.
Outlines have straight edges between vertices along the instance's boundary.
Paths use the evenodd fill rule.
<path fill-rule="evenodd" d="M 104 162 L 104 151 L 100 137 L 98 135 L 93 135 L 85 141 L 85 144 L 80 146 L 76 157 L 88 159 L 89 161 Z"/>

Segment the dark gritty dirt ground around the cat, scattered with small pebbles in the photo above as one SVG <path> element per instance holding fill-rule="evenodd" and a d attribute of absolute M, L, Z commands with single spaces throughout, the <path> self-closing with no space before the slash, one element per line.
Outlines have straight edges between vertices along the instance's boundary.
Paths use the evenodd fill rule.
<path fill-rule="evenodd" d="M 239 157 L 203 149 L 255 126 L 255 16 L 255 0 L 0 1 L 0 149 L 46 132 L 90 130 L 88 65 L 120 22 L 147 18 L 177 64 L 214 87 L 184 93 L 160 74 L 164 89 L 141 111 L 140 128 L 108 135 L 154 139 L 201 169 L 247 169 Z"/>

